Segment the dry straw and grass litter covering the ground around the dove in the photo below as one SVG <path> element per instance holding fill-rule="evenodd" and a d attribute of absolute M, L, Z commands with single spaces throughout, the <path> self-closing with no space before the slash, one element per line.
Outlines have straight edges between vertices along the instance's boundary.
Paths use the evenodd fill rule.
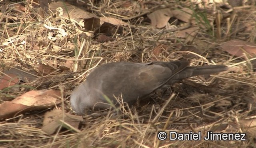
<path fill-rule="evenodd" d="M 55 17 L 52 12 L 42 15 L 38 12 L 38 5 L 28 5 L 27 2 L 30 1 L 12 7 L 17 2 L 0 1 L 7 6 L 7 10 L 2 7 L 0 13 L 0 75 L 4 75 L 4 70 L 18 66 L 24 71 L 35 70 L 36 78 L 16 84 L 16 89 L 0 91 L 0 103 L 33 89 L 60 90 L 64 97 L 62 103 L 47 110 L 34 110 L 1 120 L 1 148 L 255 147 L 254 58 L 248 54 L 237 57 L 220 48 L 222 43 L 233 39 L 252 43 L 256 41 L 254 5 L 244 3 L 224 8 L 221 2 L 194 3 L 192 0 L 90 1 L 81 8 L 99 17 L 121 18 L 128 24 L 122 26 L 120 32 L 116 31 L 111 35 L 114 40 L 100 43 L 97 42 L 98 34 L 93 31 L 83 30 L 68 19 Z M 195 26 L 200 27 L 193 30 L 193 36 L 186 34 L 183 38 L 177 37 L 174 32 L 190 26 L 186 27 L 175 18 L 169 20 L 173 26 L 178 26 L 175 29 L 156 29 L 150 25 L 146 10 L 157 10 L 160 7 L 189 8 L 193 10 L 194 18 L 201 16 L 196 20 L 204 20 L 203 16 L 207 16 L 213 21 L 212 24 L 206 23 L 207 19 L 198 21 Z M 145 15 L 132 18 L 143 11 Z M 220 12 L 222 17 L 215 12 Z M 49 29 L 46 25 L 62 30 Z M 230 69 L 211 77 L 186 79 L 172 86 L 163 95 L 152 94 L 152 98 L 148 99 L 150 101 L 121 108 L 118 113 L 88 110 L 79 130 L 58 128 L 51 135 L 41 130 L 44 113 L 47 111 L 62 109 L 65 113 L 74 114 L 68 97 L 80 82 L 86 80 L 88 70 L 97 64 L 181 59 L 190 60 L 193 66 L 224 64 Z M 71 61 L 73 67 L 60 70 L 67 61 Z M 42 64 L 50 65 L 54 71 L 42 75 L 40 64 L 41 67 Z M 246 141 L 161 141 L 157 138 L 160 131 L 201 131 L 202 136 L 207 131 L 246 133 Z"/>

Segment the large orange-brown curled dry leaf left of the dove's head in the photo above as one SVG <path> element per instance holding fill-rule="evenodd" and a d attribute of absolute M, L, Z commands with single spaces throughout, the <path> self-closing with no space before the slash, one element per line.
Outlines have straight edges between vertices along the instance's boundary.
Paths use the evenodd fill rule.
<path fill-rule="evenodd" d="M 28 110 L 50 108 L 59 104 L 61 92 L 56 90 L 32 90 L 18 96 L 12 101 L 0 104 L 0 119 L 13 117 Z"/>

